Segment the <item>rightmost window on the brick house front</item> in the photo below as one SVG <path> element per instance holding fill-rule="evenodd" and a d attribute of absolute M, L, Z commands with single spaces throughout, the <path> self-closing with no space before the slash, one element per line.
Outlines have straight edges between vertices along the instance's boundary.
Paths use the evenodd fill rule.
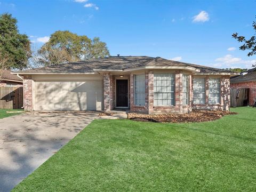
<path fill-rule="evenodd" d="M 209 104 L 220 103 L 220 78 L 209 78 Z"/>

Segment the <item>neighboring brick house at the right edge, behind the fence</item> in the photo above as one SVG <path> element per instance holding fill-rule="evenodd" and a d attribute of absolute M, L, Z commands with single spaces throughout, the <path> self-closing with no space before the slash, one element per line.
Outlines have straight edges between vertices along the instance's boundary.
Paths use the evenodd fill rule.
<path fill-rule="evenodd" d="M 230 79 L 230 87 L 234 89 L 249 89 L 249 105 L 253 105 L 256 98 L 256 68 L 242 72 Z"/>

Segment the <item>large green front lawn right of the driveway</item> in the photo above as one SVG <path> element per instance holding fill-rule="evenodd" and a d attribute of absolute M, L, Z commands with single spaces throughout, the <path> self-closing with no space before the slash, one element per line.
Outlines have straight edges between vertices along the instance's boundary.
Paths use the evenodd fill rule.
<path fill-rule="evenodd" d="M 205 123 L 95 120 L 13 191 L 256 191 L 256 108 Z"/>

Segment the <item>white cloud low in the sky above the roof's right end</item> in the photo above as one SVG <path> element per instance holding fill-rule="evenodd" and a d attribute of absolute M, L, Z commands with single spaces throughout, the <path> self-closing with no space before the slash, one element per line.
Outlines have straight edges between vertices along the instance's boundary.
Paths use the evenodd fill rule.
<path fill-rule="evenodd" d="M 255 65 L 256 59 L 254 60 L 243 60 L 242 58 L 234 57 L 231 54 L 227 54 L 224 57 L 220 57 L 215 59 L 217 63 L 214 63 L 214 67 L 231 67 L 234 65 L 239 65 L 235 66 L 236 68 L 251 68 L 252 65 Z"/>

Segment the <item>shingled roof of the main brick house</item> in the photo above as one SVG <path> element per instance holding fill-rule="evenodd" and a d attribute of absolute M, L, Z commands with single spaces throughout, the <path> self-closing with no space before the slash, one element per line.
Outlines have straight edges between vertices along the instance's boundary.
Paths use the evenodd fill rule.
<path fill-rule="evenodd" d="M 190 68 L 200 73 L 230 73 L 236 74 L 229 70 L 195 65 L 185 62 L 172 61 L 161 57 L 147 56 L 110 56 L 106 58 L 63 63 L 60 65 L 28 69 L 17 73 L 94 73 L 97 70 L 129 70 L 141 67 L 176 67 Z"/>

